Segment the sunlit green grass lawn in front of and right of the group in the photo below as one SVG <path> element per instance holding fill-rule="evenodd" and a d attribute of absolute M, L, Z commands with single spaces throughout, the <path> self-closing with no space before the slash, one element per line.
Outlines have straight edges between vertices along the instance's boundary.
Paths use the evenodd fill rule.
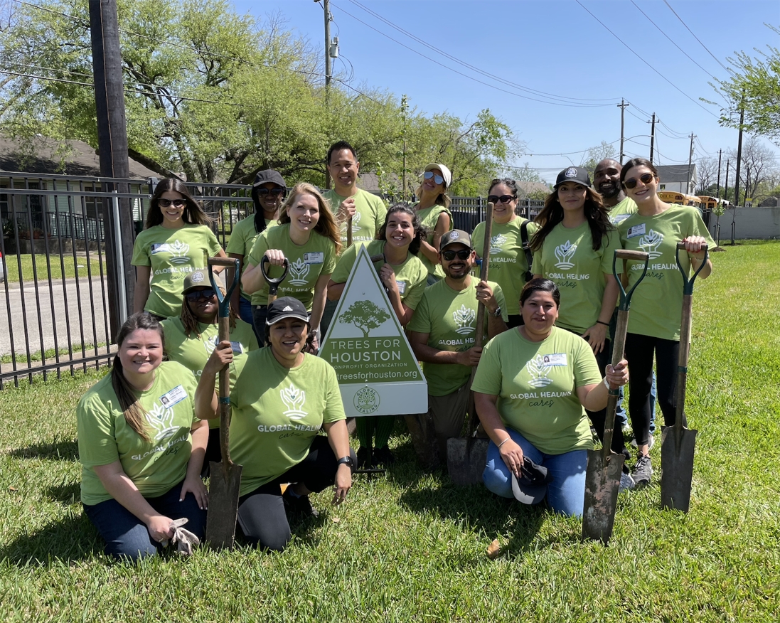
<path fill-rule="evenodd" d="M 574 519 L 423 473 L 399 425 L 386 476 L 356 476 L 339 508 L 313 496 L 319 519 L 282 554 L 115 564 L 79 501 L 73 408 L 92 373 L 0 392 L 0 619 L 778 621 L 780 244 L 725 249 L 694 293 L 688 515 L 659 508 L 654 477 L 621 495 L 608 547 L 583 543 Z"/>

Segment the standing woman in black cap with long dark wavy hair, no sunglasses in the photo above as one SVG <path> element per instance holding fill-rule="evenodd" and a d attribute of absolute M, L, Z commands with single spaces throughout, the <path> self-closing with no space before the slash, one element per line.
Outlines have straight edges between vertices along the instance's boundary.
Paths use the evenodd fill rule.
<path fill-rule="evenodd" d="M 534 277 L 555 281 L 562 292 L 556 326 L 582 335 L 593 349 L 598 369 L 604 370 L 612 358 L 608 330 L 619 293 L 612 258 L 621 247 L 586 169 L 569 167 L 558 174 L 536 223 L 530 242 Z M 606 411 L 588 412 L 588 416 L 603 439 Z M 612 450 L 629 456 L 620 427 L 612 434 Z"/>

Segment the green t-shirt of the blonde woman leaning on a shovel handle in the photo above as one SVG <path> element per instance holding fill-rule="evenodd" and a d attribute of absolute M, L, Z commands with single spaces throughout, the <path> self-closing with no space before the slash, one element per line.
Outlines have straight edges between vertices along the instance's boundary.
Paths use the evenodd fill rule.
<path fill-rule="evenodd" d="M 331 239 L 320 232 L 311 232 L 306 244 L 296 245 L 290 239 L 290 224 L 267 229 L 263 235 L 258 235 L 246 264 L 257 266 L 266 251 L 278 249 L 289 261 L 289 272 L 279 285 L 278 297 L 294 296 L 308 311 L 314 303 L 314 285 L 323 274 L 331 274 L 336 265 L 336 246 Z M 271 266 L 269 277 L 280 277 L 284 269 L 281 266 Z M 268 305 L 268 284 L 253 292 L 253 305 Z"/>

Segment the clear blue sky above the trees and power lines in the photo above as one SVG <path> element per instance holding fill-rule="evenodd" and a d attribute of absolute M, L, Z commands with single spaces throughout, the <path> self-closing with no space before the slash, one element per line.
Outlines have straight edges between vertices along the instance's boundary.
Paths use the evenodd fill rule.
<path fill-rule="evenodd" d="M 708 82 L 725 78 L 719 62 L 728 66 L 726 57 L 734 51 L 780 47 L 780 37 L 764 27 L 780 25 L 780 2 L 667 1 L 332 0 L 331 35 L 339 36 L 340 51 L 335 71 L 353 68 L 353 87 L 407 94 L 422 112 L 446 110 L 474 119 L 490 108 L 533 154 L 515 164 L 528 162 L 548 180 L 572 162 L 580 164 L 585 150 L 602 140 L 619 147 L 621 98 L 631 104 L 624 147 L 629 157 L 649 154 L 647 121 L 653 112 L 662 122 L 656 126 L 657 163 L 686 164 L 691 132 L 697 135 L 694 161 L 717 157 L 719 149 L 736 149 L 737 133 L 718 126 L 718 108 L 699 97 L 718 97 Z M 234 0 L 233 5 L 258 18 L 278 12 L 286 27 L 324 48 L 321 3 Z"/>

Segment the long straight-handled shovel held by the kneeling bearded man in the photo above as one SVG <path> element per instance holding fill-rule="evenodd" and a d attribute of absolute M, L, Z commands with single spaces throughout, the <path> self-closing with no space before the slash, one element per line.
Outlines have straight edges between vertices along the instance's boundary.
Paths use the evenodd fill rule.
<path fill-rule="evenodd" d="M 485 214 L 485 238 L 482 247 L 482 266 L 480 267 L 480 281 L 488 279 L 488 264 L 490 264 L 490 239 L 493 231 L 493 204 L 488 204 Z M 477 306 L 477 336 L 474 345 L 482 345 L 484 333 L 485 306 Z M 477 366 L 471 369 L 469 388 L 477 373 Z M 474 392 L 469 392 L 468 426 L 466 438 L 452 437 L 447 440 L 447 470 L 453 483 L 459 487 L 482 482 L 482 473 L 485 463 L 488 462 L 488 440 L 476 439 L 477 433 L 477 409 L 474 407 Z M 432 427 L 431 427 L 432 430 Z"/>

